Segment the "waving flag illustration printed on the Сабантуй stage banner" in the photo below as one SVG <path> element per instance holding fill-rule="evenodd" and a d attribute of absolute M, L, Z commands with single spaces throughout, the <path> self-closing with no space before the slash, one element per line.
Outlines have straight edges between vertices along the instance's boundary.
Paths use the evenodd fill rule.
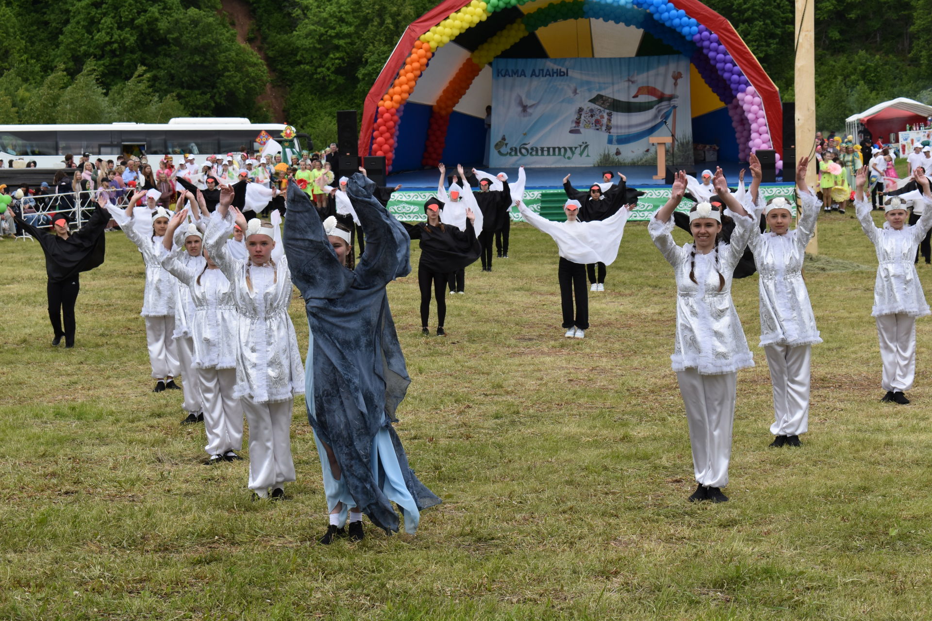
<path fill-rule="evenodd" d="M 644 140 L 661 128 L 677 109 L 678 95 L 665 93 L 659 88 L 638 87 L 632 99 L 646 95 L 652 100 L 624 101 L 608 95 L 598 94 L 589 100 L 591 106 L 579 106 L 576 118 L 569 129 L 571 134 L 583 133 L 583 129 L 595 129 L 609 134 L 609 144 L 629 144 Z M 614 115 L 615 125 L 625 129 L 624 134 L 612 134 L 611 125 Z"/>

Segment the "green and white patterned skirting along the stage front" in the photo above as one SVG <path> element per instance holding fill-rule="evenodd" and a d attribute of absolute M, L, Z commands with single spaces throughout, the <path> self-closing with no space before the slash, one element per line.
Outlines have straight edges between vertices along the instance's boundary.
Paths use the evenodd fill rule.
<path fill-rule="evenodd" d="M 528 209 L 535 213 L 541 211 L 541 192 L 558 192 L 563 195 L 563 190 L 526 190 L 525 204 L 528 206 Z M 791 204 L 795 205 L 796 199 L 793 194 L 794 192 L 795 186 L 792 183 L 768 183 L 761 185 L 761 196 L 764 197 L 765 201 L 769 201 L 777 196 L 783 196 Z M 662 208 L 667 199 L 669 199 L 670 188 L 669 186 L 648 187 L 644 189 L 644 193 L 644 196 L 637 199 L 637 207 L 631 213 L 629 222 L 646 222 L 650 220 L 654 212 Z M 430 191 L 414 192 L 399 190 L 391 195 L 389 212 L 402 222 L 424 222 L 427 220 L 427 216 L 424 215 L 424 203 L 428 198 L 436 196 L 436 194 L 436 192 Z M 677 210 L 689 211 L 692 205 L 693 203 L 691 200 L 684 199 L 679 203 Z M 792 210 L 795 214 L 795 208 Z M 513 223 L 524 222 L 524 218 L 521 217 L 521 214 L 518 213 L 518 209 L 514 206 L 511 210 L 511 218 Z"/>

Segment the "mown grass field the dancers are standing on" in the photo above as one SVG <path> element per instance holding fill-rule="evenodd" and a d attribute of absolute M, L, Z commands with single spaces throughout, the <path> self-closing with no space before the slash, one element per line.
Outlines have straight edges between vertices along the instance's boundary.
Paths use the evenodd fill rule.
<path fill-rule="evenodd" d="M 932 617 L 932 319 L 917 324 L 912 404 L 879 403 L 876 262 L 853 209 L 821 219 L 806 273 L 825 340 L 810 433 L 767 448 L 753 346 L 732 502 L 717 506 L 686 502 L 674 283 L 646 224 L 628 225 L 583 341 L 559 327 L 553 242 L 512 231 L 512 258 L 471 266 L 448 300 L 446 338 L 420 335 L 416 277 L 390 286 L 413 378 L 397 428 L 444 504 L 415 536 L 366 522 L 362 543 L 331 547 L 315 543 L 326 508 L 303 399 L 290 500 L 250 502 L 247 463 L 201 466 L 180 393 L 150 392 L 143 263 L 125 236 L 107 234 L 106 263 L 82 276 L 73 350 L 50 346 L 38 245 L 0 242 L 0 619 Z M 756 345 L 757 277 L 734 299 Z M 292 317 L 304 348 L 296 296 Z"/>

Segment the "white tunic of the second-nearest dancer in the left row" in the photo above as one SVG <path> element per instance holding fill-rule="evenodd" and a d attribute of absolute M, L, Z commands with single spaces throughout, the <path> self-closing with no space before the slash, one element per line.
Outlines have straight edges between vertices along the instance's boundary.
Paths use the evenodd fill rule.
<path fill-rule="evenodd" d="M 199 369 L 235 369 L 239 317 L 229 280 L 219 269 L 193 267 L 185 262 L 185 255 L 184 248 L 172 250 L 162 258 L 162 265 L 182 283 L 194 307 L 188 321 L 194 343 L 192 364 Z"/>

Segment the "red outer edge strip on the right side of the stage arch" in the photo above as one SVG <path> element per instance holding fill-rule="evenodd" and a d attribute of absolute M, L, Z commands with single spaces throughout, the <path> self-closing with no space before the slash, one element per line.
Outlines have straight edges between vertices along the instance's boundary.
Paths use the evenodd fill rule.
<path fill-rule="evenodd" d="M 776 155 L 783 159 L 783 104 L 780 102 L 780 91 L 773 80 L 761 67 L 761 63 L 747 48 L 747 44 L 740 34 L 734 30 L 732 22 L 721 17 L 717 12 L 698 0 L 669 0 L 674 7 L 686 11 L 692 19 L 706 26 L 710 31 L 719 35 L 720 43 L 741 67 L 747 76 L 747 81 L 757 90 L 763 103 L 764 114 L 767 115 L 767 128 L 770 130 L 770 140 L 774 144 Z"/>

